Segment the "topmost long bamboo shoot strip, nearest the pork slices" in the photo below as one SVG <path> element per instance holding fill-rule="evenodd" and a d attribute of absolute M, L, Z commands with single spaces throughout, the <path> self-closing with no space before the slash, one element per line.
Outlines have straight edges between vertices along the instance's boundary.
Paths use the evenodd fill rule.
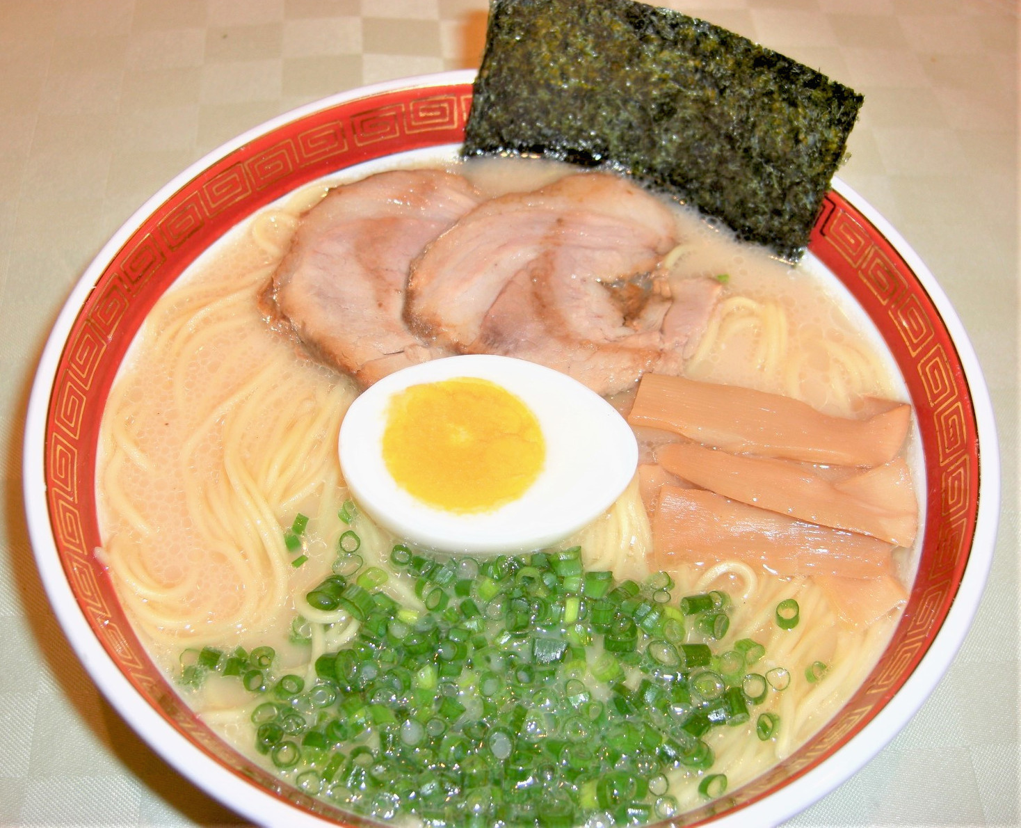
<path fill-rule="evenodd" d="M 868 420 L 853 420 L 779 394 L 646 374 L 628 422 L 727 451 L 871 467 L 888 462 L 901 450 L 911 406 L 901 403 Z"/>

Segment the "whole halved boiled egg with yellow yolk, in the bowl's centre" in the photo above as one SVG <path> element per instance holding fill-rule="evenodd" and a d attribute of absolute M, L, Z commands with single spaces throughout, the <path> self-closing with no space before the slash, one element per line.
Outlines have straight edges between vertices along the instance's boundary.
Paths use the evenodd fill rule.
<path fill-rule="evenodd" d="M 384 377 L 348 409 L 340 466 L 358 505 L 441 551 L 520 552 L 593 521 L 638 445 L 602 397 L 543 366 L 450 356 Z"/>

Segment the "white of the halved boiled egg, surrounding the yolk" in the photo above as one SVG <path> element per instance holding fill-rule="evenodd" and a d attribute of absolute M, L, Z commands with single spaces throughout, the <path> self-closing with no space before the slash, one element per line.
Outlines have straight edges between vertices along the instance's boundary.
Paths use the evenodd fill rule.
<path fill-rule="evenodd" d="M 458 515 L 415 498 L 383 460 L 390 399 L 408 386 L 478 377 L 517 395 L 535 415 L 546 456 L 521 497 Z M 340 427 L 340 467 L 355 502 L 395 535 L 431 549 L 496 553 L 540 549 L 595 520 L 634 477 L 638 444 L 627 422 L 578 381 L 524 359 L 471 354 L 384 377 L 351 403 Z"/>

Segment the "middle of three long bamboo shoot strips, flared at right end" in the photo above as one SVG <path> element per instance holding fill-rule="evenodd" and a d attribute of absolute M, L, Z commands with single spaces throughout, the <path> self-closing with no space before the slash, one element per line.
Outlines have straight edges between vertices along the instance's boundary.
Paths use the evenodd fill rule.
<path fill-rule="evenodd" d="M 918 504 L 901 458 L 830 483 L 808 464 L 671 443 L 655 454 L 671 474 L 742 503 L 897 546 L 911 546 Z"/>

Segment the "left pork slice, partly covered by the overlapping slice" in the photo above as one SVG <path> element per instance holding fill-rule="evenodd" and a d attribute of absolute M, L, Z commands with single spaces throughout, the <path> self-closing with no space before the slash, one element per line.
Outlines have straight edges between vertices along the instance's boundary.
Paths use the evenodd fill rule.
<path fill-rule="evenodd" d="M 338 187 L 303 216 L 269 299 L 311 355 L 362 385 L 445 353 L 404 322 L 408 267 L 480 201 L 465 179 L 435 169 Z"/>

